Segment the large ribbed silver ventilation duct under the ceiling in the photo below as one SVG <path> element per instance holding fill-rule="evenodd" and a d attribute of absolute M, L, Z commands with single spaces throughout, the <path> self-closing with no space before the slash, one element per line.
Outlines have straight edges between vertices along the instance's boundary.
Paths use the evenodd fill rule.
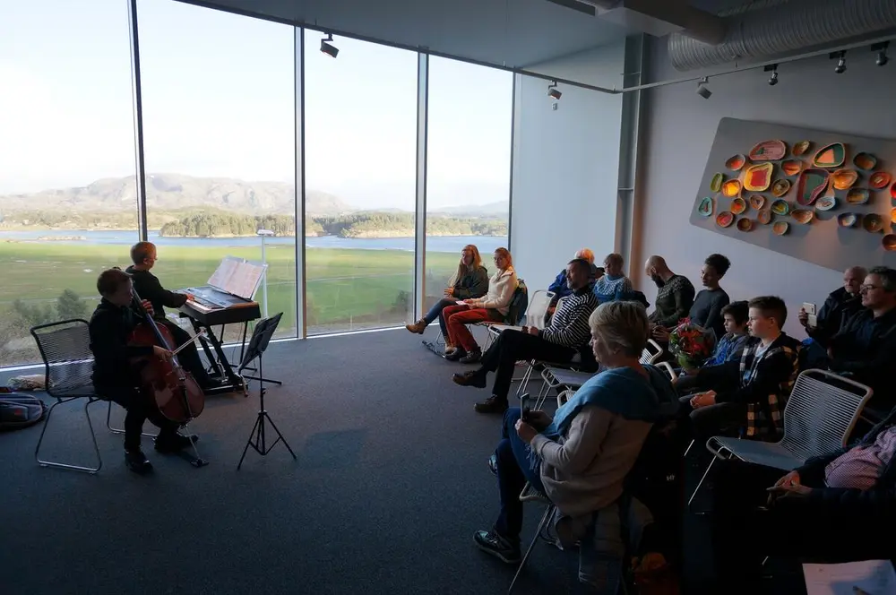
<path fill-rule="evenodd" d="M 725 39 L 709 45 L 685 31 L 669 36 L 669 58 L 676 70 L 688 71 L 736 60 L 771 59 L 781 54 L 823 47 L 896 29 L 893 0 L 771 0 L 753 3 L 723 18 Z M 743 10 L 743 9 L 742 9 Z"/>

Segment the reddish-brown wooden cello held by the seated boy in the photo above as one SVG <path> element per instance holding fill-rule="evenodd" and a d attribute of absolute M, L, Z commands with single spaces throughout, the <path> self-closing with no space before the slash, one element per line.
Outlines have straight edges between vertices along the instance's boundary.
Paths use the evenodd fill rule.
<path fill-rule="evenodd" d="M 183 426 L 202 414 L 202 410 L 205 409 L 205 393 L 193 375 L 177 362 L 176 354 L 179 349 L 172 348 L 174 337 L 171 332 L 164 324 L 156 323 L 143 307 L 142 299 L 136 291 L 133 291 L 133 295 L 134 309 L 144 320 L 131 332 L 128 343 L 158 345 L 173 352 L 170 359 L 155 355 L 135 358 L 136 362 L 142 363 L 142 366 L 139 366 L 142 395 L 147 401 L 151 401 L 163 417 Z M 205 461 L 202 461 L 197 453 L 193 463 L 194 466 L 201 467 Z"/>

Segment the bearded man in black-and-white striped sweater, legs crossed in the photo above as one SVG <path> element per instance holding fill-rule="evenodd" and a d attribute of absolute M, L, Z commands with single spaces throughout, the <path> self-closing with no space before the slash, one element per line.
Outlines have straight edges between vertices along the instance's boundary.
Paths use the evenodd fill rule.
<path fill-rule="evenodd" d="M 568 362 L 579 349 L 587 346 L 590 337 L 588 317 L 598 306 L 598 299 L 588 285 L 589 263 L 579 258 L 566 265 L 566 269 L 566 283 L 573 293 L 560 300 L 546 329 L 539 331 L 534 326 L 524 326 L 521 331 L 505 329 L 482 356 L 482 366 L 478 370 L 453 376 L 454 382 L 461 386 L 485 388 L 488 373 L 495 372 L 492 396 L 476 403 L 479 413 L 503 413 L 507 409 L 507 392 L 517 360 Z"/>

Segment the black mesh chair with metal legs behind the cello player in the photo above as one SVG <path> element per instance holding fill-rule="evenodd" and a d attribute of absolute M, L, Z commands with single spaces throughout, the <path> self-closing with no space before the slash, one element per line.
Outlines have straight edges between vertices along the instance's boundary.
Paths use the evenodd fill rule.
<path fill-rule="evenodd" d="M 96 473 L 103 466 L 99 457 L 97 436 L 90 422 L 90 404 L 100 401 L 93 389 L 91 375 L 93 373 L 93 353 L 90 351 L 90 333 L 86 320 L 64 320 L 59 323 L 40 324 L 31 329 L 31 336 L 38 342 L 40 357 L 44 360 L 47 394 L 56 399 L 47 411 L 44 428 L 40 432 L 38 446 L 34 450 L 34 458 L 41 467 L 58 467 L 76 471 Z M 50 416 L 56 405 L 83 399 L 84 416 L 90 428 L 90 440 L 93 452 L 97 457 L 96 467 L 83 467 L 59 461 L 44 461 L 40 458 L 40 444 L 44 441 Z"/>

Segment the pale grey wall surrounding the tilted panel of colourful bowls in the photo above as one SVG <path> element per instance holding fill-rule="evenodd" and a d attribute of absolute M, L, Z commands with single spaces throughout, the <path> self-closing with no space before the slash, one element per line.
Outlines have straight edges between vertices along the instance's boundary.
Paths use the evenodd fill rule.
<path fill-rule="evenodd" d="M 640 260 L 661 254 L 673 271 L 689 277 L 699 289 L 703 259 L 713 252 L 726 254 L 732 263 L 722 281 L 728 295 L 782 297 L 788 304 L 786 330 L 803 338 L 796 316 L 800 305 L 821 305 L 840 285 L 841 272 L 695 228 L 688 218 L 721 117 L 896 138 L 896 64 L 878 67 L 874 54 L 865 50 L 850 52 L 847 65 L 847 72 L 839 75 L 826 57 L 781 65 L 780 82 L 774 87 L 761 70 L 719 77 L 709 82 L 711 99 L 697 96 L 690 82 L 647 91 L 634 229 Z M 668 64 L 660 40 L 650 55 L 650 80 L 681 76 Z M 656 288 L 644 277 L 640 263 L 632 268 L 637 272 L 633 281 L 652 301 Z"/>

